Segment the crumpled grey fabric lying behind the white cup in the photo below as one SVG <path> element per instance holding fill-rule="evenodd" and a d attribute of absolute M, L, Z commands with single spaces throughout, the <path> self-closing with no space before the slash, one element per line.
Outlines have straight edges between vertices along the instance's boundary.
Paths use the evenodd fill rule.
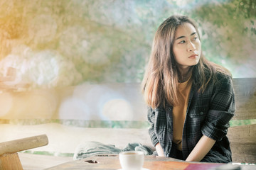
<path fill-rule="evenodd" d="M 142 151 L 145 155 L 153 154 L 150 147 L 140 143 L 128 143 L 124 149 L 119 149 L 114 145 L 105 145 L 100 142 L 90 141 L 83 142 L 76 147 L 73 159 L 84 159 L 99 154 L 119 154 L 124 151 Z"/>

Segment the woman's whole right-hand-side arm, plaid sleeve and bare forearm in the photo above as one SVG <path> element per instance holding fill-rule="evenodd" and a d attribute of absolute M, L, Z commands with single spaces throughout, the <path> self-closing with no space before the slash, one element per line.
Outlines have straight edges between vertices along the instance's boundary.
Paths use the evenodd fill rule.
<path fill-rule="evenodd" d="M 203 136 L 197 142 L 186 161 L 201 161 L 215 144 L 227 135 L 228 122 L 235 113 L 235 96 L 231 77 L 224 77 L 215 85 L 216 90 L 210 101 L 210 109 L 202 125 Z"/>

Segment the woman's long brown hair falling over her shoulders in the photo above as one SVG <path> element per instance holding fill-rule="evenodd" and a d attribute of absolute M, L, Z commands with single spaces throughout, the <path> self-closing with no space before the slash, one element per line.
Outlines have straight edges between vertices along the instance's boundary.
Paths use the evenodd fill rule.
<path fill-rule="evenodd" d="M 181 76 L 181 73 L 176 67 L 173 45 L 176 29 L 183 23 L 191 23 L 196 28 L 198 38 L 201 40 L 196 24 L 187 16 L 171 16 L 167 18 L 161 23 L 154 35 L 149 63 L 142 81 L 144 99 L 151 108 L 165 107 L 167 105 L 175 106 L 178 103 L 176 91 L 178 77 Z M 230 75 L 224 67 L 206 60 L 201 52 L 198 64 L 193 66 L 193 81 L 198 84 L 198 91 L 203 92 L 210 80 L 215 82 L 217 80 L 217 72 Z M 195 75 L 200 79 L 195 79 Z"/>

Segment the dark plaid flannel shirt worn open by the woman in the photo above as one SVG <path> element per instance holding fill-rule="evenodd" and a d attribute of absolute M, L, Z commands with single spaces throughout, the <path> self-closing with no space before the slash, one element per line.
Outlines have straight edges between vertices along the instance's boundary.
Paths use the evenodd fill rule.
<path fill-rule="evenodd" d="M 232 162 L 227 132 L 229 121 L 235 113 L 235 95 L 230 77 L 218 74 L 218 82 L 210 81 L 203 93 L 193 81 L 186 119 L 183 125 L 182 153 L 186 159 L 203 135 L 216 140 L 201 162 Z M 160 142 L 165 157 L 176 157 L 173 145 L 172 106 L 148 109 L 148 121 L 151 127 L 149 135 L 155 146 Z"/>

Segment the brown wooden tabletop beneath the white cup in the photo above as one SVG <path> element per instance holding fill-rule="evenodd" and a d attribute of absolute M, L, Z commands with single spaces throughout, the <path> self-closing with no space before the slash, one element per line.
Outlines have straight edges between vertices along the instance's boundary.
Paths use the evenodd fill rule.
<path fill-rule="evenodd" d="M 215 169 L 217 166 L 223 164 L 213 163 L 199 163 L 199 162 L 183 162 L 178 159 L 166 158 L 166 157 L 155 157 L 145 156 L 144 168 L 150 170 L 207 170 Z M 242 170 L 256 169 L 256 166 L 247 165 L 241 166 Z M 62 169 L 121 169 L 119 164 L 118 155 L 113 154 L 102 154 L 94 157 L 88 157 L 86 159 L 76 160 L 73 162 L 67 162 L 58 166 L 53 166 L 48 170 L 62 170 Z"/>

